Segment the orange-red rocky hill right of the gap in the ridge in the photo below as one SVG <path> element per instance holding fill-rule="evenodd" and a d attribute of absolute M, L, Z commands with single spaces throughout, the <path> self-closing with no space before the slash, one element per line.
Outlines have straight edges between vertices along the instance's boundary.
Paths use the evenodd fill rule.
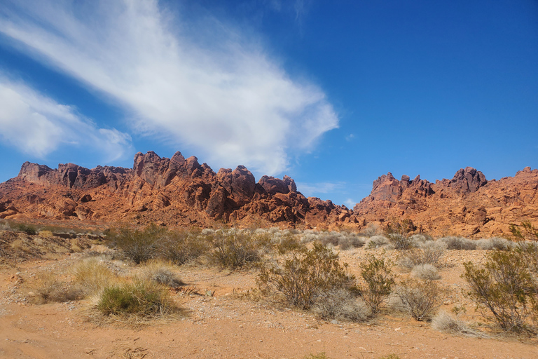
<path fill-rule="evenodd" d="M 435 183 L 395 179 L 389 172 L 373 182 L 370 196 L 354 207 L 366 222 L 411 219 L 418 231 L 436 235 L 502 236 L 511 223 L 538 226 L 538 170 L 527 167 L 514 177 L 488 181 L 467 167 Z"/>

